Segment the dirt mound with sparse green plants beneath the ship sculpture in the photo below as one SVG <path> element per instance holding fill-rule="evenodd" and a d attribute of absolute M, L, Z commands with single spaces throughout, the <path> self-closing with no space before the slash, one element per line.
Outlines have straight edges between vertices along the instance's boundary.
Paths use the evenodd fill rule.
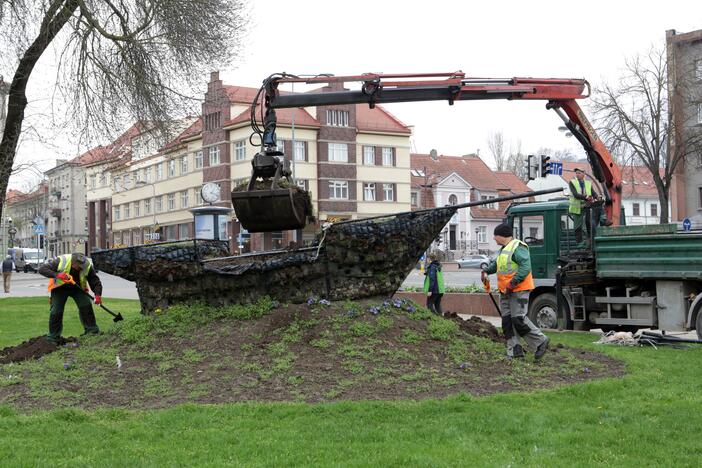
<path fill-rule="evenodd" d="M 561 345 L 540 362 L 533 354 L 510 361 L 502 336 L 488 322 L 437 319 L 408 303 L 387 304 L 279 306 L 256 319 L 219 320 L 146 345 L 115 334 L 60 347 L 36 338 L 0 352 L 0 378 L 15 379 L 0 385 L 0 404 L 142 409 L 185 402 L 423 399 L 534 390 L 624 373 L 620 361 Z M 40 360 L 8 364 L 19 357 Z"/>

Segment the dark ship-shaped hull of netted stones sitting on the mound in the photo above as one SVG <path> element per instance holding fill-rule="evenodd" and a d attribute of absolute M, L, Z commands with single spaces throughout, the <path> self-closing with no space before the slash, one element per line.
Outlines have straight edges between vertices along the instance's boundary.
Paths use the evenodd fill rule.
<path fill-rule="evenodd" d="M 224 243 L 190 240 L 96 251 L 95 266 L 136 281 L 142 313 L 203 300 L 221 306 L 264 295 L 300 303 L 389 297 L 456 208 L 332 224 L 312 247 L 227 257 Z"/>

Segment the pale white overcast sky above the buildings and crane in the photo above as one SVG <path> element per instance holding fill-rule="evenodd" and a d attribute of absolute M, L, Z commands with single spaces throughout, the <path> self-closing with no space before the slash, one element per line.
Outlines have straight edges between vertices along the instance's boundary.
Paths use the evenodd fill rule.
<path fill-rule="evenodd" d="M 258 87 L 274 72 L 433 73 L 462 70 L 481 77 L 586 78 L 616 81 L 626 57 L 663 44 L 665 31 L 702 28 L 697 1 L 376 1 L 255 0 L 244 54 L 221 70 L 225 84 Z M 211 70 L 201 70 L 204 85 Z M 41 115 L 50 90 L 32 78 L 31 113 Z M 7 80 L 7 78 L 6 78 Z M 42 93 L 44 93 L 42 95 Z M 43 97 L 42 97 L 43 96 Z M 461 155 L 479 150 L 492 165 L 487 137 L 502 131 L 524 153 L 569 148 L 561 121 L 544 102 L 405 103 L 386 106 L 414 127 L 412 151 Z M 587 107 L 586 102 L 581 102 Z M 587 112 L 587 111 L 586 111 Z M 26 143 L 22 160 L 75 156 L 75 142 Z M 11 187 L 21 186 L 20 179 Z"/>

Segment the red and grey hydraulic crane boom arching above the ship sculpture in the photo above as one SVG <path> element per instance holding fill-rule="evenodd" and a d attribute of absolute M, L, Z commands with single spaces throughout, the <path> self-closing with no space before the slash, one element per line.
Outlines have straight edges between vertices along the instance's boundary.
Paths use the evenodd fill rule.
<path fill-rule="evenodd" d="M 343 85 L 350 82 L 360 82 L 361 89 L 343 89 Z M 284 83 L 338 83 L 341 86 L 337 87 L 341 89 L 329 92 L 283 94 L 278 87 Z M 264 98 L 263 105 L 260 106 L 263 130 L 258 127 L 255 117 L 261 95 Z M 590 85 L 582 79 L 471 78 L 466 77 L 462 72 L 399 75 L 368 73 L 355 76 L 313 77 L 271 75 L 264 80 L 263 87 L 252 106 L 252 126 L 254 132 L 260 135 L 262 143 L 261 153 L 254 157 L 252 183 L 257 173 L 262 175 L 275 172 L 272 165 L 278 164 L 276 167 L 281 168 L 282 174 L 285 174 L 284 161 L 271 157 L 275 148 L 275 109 L 364 103 L 372 108 L 376 104 L 384 103 L 439 100 L 448 101 L 450 105 L 455 101 L 486 99 L 544 100 L 547 101 L 546 108 L 558 113 L 585 148 L 593 176 L 606 187 L 603 195 L 606 199 L 607 216 L 615 225 L 618 225 L 621 217 L 619 167 L 576 102 L 576 99 L 587 98 L 589 95 Z"/>

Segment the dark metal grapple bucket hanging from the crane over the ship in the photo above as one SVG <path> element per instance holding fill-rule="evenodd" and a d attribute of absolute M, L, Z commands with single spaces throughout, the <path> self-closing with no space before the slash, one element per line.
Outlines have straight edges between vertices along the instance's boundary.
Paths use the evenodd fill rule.
<path fill-rule="evenodd" d="M 232 192 L 232 205 L 249 232 L 302 229 L 311 215 L 309 193 L 296 187 Z"/>

